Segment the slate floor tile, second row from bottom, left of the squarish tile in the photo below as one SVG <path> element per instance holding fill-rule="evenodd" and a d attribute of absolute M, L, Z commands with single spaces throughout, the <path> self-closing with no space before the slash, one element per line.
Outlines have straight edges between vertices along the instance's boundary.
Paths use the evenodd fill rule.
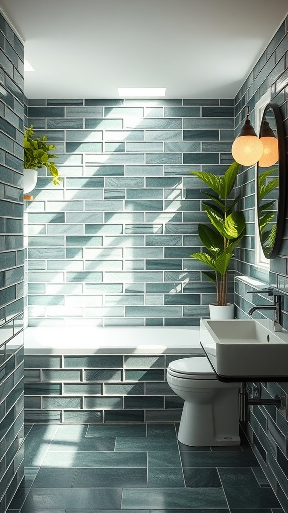
<path fill-rule="evenodd" d="M 79 468 L 73 488 L 147 488 L 146 468 Z"/>

